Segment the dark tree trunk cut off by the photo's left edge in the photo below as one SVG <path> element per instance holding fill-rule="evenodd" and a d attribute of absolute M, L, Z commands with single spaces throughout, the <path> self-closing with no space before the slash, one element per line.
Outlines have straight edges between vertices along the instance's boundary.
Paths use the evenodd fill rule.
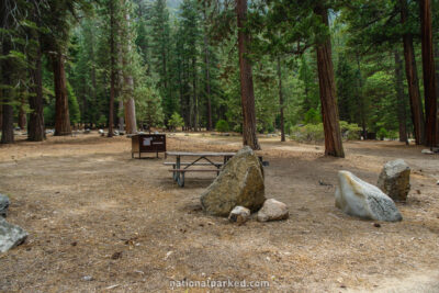
<path fill-rule="evenodd" d="M 8 56 L 11 50 L 11 42 L 9 36 L 3 36 L 2 40 L 2 54 Z M 2 91 L 2 121 L 1 121 L 1 144 L 13 144 L 13 106 L 12 103 L 12 70 L 13 65 L 11 58 L 4 58 L 1 63 L 2 83 L 5 86 Z"/>

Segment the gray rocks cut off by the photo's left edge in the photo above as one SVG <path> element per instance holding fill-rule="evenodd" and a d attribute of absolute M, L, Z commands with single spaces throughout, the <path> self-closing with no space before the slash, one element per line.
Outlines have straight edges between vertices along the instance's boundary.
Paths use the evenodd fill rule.
<path fill-rule="evenodd" d="M 0 194 L 0 252 L 5 252 L 23 244 L 27 238 L 27 233 L 25 230 L 5 221 L 9 204 L 9 198 Z"/>

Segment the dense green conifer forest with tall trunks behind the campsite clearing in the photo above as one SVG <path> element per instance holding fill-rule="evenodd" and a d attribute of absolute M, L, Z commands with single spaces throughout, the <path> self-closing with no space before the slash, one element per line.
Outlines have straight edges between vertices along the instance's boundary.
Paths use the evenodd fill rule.
<path fill-rule="evenodd" d="M 1 4 L 2 143 L 71 128 L 436 146 L 438 0 Z"/>

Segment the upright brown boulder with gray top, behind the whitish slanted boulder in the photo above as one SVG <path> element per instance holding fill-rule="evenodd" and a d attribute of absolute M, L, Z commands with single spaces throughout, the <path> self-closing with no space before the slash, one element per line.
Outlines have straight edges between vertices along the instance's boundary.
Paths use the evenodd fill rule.
<path fill-rule="evenodd" d="M 387 161 L 378 179 L 378 187 L 392 200 L 405 202 L 410 191 L 410 167 L 403 159 Z"/>

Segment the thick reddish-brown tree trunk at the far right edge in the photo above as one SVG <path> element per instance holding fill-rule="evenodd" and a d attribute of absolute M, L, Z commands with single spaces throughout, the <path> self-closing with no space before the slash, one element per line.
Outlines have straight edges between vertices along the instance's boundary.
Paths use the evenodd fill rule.
<path fill-rule="evenodd" d="M 431 1 L 420 0 L 420 33 L 423 52 L 424 94 L 425 94 L 425 145 L 437 145 L 437 98 L 436 98 L 436 71 L 432 49 L 431 30 Z"/>

